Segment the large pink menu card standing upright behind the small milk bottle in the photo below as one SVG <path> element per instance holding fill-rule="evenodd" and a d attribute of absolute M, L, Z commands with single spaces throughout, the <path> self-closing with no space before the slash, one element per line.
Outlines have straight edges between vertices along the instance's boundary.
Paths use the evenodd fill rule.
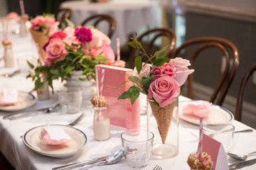
<path fill-rule="evenodd" d="M 119 89 L 116 89 L 124 81 L 128 80 L 132 69 L 113 67 L 109 65 L 99 64 L 95 66 L 98 79 L 100 82 L 102 69 L 105 69 L 105 78 L 103 82 L 102 96 L 107 98 L 107 113 L 110 117 L 110 124 L 126 129 L 139 129 L 139 98 L 134 104 L 131 104 L 129 98 L 117 100 L 117 98 L 129 89 L 132 84 L 127 82 Z"/>

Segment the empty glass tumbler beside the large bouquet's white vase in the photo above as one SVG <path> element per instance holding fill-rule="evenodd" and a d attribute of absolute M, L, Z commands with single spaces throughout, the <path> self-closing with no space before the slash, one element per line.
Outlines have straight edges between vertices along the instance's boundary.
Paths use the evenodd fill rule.
<path fill-rule="evenodd" d="M 82 89 L 69 87 L 58 91 L 58 100 L 63 113 L 78 113 L 82 106 Z"/>

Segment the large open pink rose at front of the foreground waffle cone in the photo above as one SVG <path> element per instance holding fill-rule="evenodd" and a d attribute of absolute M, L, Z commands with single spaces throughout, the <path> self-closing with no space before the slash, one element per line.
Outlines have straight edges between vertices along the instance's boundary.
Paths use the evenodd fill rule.
<path fill-rule="evenodd" d="M 164 75 L 151 81 L 148 92 L 149 98 L 154 98 L 159 106 L 163 108 L 174 102 L 176 97 L 181 94 L 181 89 L 175 79 Z"/>

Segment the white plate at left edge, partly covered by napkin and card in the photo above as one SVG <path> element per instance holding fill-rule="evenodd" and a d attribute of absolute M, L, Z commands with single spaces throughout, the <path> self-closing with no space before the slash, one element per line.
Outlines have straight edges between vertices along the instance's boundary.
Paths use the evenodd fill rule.
<path fill-rule="evenodd" d="M 31 93 L 18 91 L 18 102 L 11 106 L 0 106 L 1 111 L 21 111 L 25 108 L 29 108 L 36 103 L 36 97 Z"/>

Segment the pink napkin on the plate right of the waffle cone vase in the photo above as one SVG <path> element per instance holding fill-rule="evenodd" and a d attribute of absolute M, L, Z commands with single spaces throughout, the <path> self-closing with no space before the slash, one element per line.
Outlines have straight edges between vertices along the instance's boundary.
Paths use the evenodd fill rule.
<path fill-rule="evenodd" d="M 182 109 L 184 115 L 194 115 L 196 117 L 208 118 L 210 102 L 208 101 L 193 101 Z"/>

